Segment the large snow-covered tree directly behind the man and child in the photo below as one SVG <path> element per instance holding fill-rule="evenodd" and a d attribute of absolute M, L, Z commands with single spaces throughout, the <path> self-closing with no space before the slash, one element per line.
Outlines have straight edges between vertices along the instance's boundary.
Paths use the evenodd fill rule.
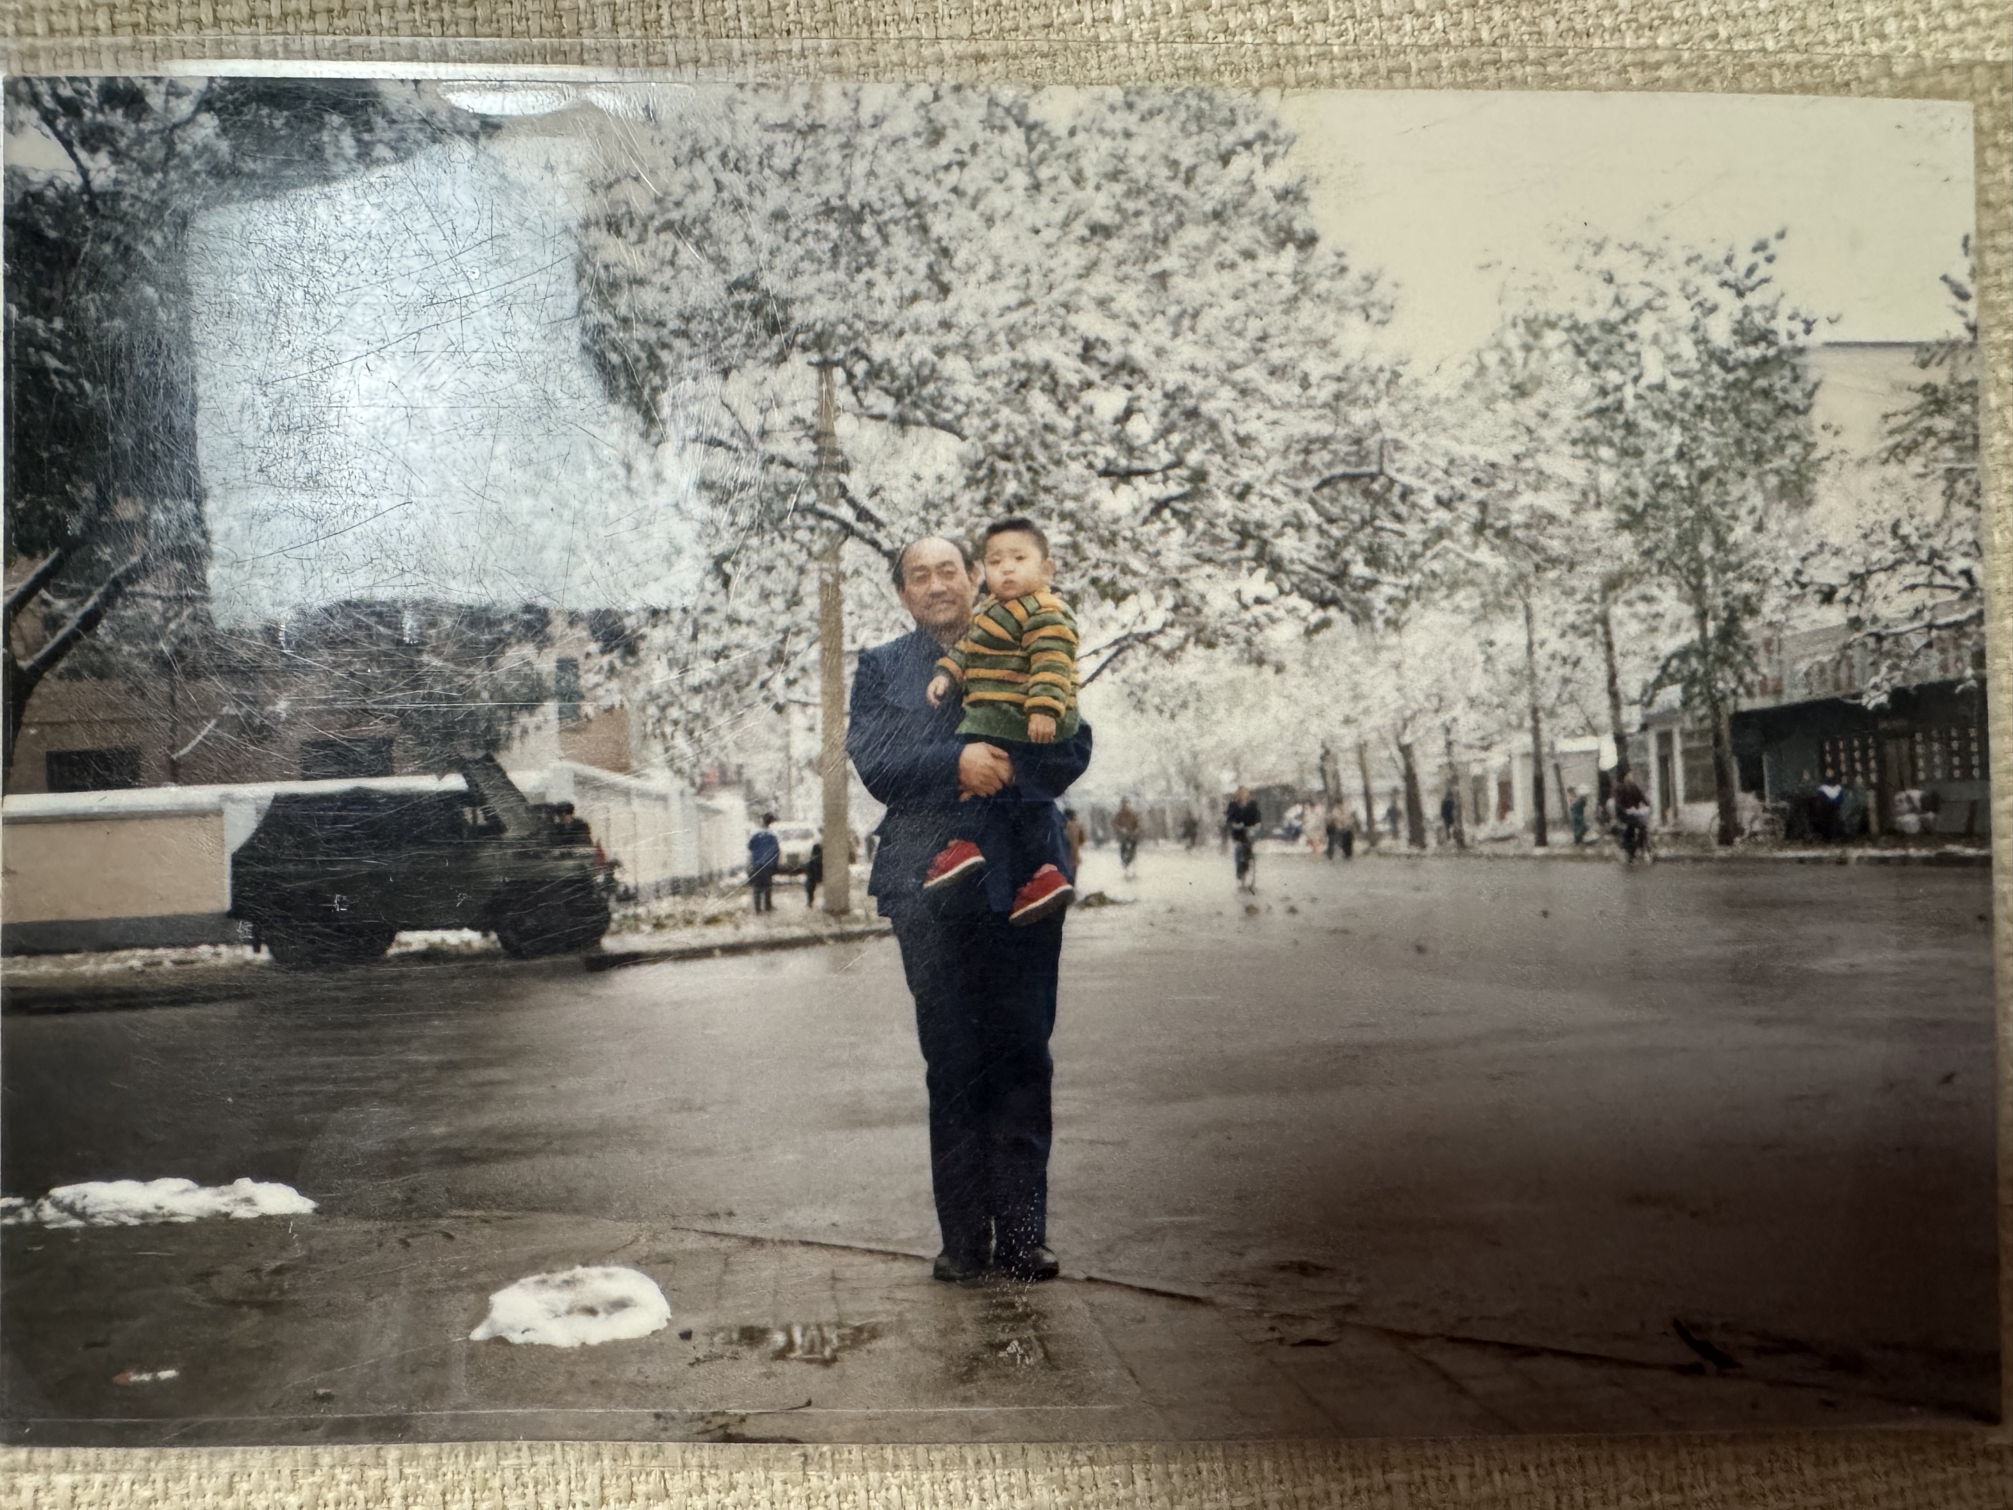
<path fill-rule="evenodd" d="M 1365 461 L 1391 376 L 1357 356 L 1383 302 L 1288 143 L 1210 91 L 755 89 L 660 119 L 580 268 L 610 393 L 699 477 L 692 676 L 783 701 L 835 536 L 866 578 L 1006 511 L 1049 525 L 1089 674 L 1373 614 L 1401 540 Z M 831 507 L 813 362 L 841 387 Z"/>

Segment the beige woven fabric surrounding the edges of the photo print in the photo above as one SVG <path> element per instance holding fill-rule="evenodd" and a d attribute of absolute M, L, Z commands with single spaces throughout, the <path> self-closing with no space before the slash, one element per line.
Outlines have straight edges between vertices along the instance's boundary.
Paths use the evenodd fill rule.
<path fill-rule="evenodd" d="M 189 58 L 684 74 L 1681 89 L 1967 99 L 1987 346 L 1993 741 L 2013 751 L 2013 0 L 0 0 L 10 72 Z M 2013 765 L 1995 791 L 2013 1236 Z M 2013 1315 L 2013 1285 L 2001 1282 Z M 2007 1349 L 2013 1355 L 2013 1349 Z M 2003 1433 L 1139 1448 L 443 1446 L 0 1454 L 0 1506 L 2013 1506 Z"/>

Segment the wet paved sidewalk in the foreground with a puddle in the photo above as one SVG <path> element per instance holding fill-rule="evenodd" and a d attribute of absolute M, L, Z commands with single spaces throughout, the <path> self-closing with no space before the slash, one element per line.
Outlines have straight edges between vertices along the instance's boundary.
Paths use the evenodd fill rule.
<path fill-rule="evenodd" d="M 1673 1335 L 1598 1357 L 1270 1313 L 1069 1268 L 958 1289 L 920 1252 L 580 1214 L 451 1210 L 4 1234 L 18 1446 L 497 1438 L 1137 1442 L 1949 1425 Z M 533 1272 L 648 1274 L 670 1325 L 469 1341 Z M 1345 1307 L 1347 1309 L 1347 1307 Z M 87 1359 L 79 1367 L 76 1359 Z M 1731 1363 L 1731 1359 L 1727 1359 Z"/>

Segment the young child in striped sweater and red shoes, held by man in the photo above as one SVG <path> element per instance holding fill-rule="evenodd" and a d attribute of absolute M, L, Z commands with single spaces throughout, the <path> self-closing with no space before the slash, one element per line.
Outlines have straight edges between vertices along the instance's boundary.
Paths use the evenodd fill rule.
<path fill-rule="evenodd" d="M 930 707 L 964 689 L 966 743 L 1047 745 L 1077 733 L 1077 620 L 1049 592 L 1055 562 L 1049 538 L 1033 519 L 1000 519 L 978 542 L 986 596 L 930 681 Z M 1063 870 L 1065 850 L 1055 803 L 1019 801 L 1009 787 L 968 797 L 956 838 L 938 852 L 924 890 L 972 878 L 984 864 L 1004 864 L 1021 882 L 1009 922 L 1027 926 L 1067 908 L 1077 890 Z"/>

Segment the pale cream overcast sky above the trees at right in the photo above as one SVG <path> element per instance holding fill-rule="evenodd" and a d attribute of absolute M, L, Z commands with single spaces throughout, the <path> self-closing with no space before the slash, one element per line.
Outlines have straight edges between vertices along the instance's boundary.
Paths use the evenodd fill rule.
<path fill-rule="evenodd" d="M 1506 284 L 1562 270 L 1574 232 L 1749 244 L 1830 340 L 1949 334 L 1937 282 L 1973 225 L 1971 107 L 1775 95 L 1298 93 L 1321 230 L 1397 292 L 1421 368 L 1472 350 Z"/>

